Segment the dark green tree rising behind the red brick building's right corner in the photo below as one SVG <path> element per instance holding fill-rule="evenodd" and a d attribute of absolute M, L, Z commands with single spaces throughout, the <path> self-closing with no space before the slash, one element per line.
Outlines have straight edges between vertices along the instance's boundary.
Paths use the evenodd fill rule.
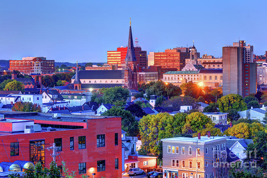
<path fill-rule="evenodd" d="M 101 116 L 116 116 L 121 117 L 121 129 L 129 134 L 129 136 L 137 136 L 139 133 L 138 122 L 130 111 L 112 107 L 106 112 L 102 113 Z"/>

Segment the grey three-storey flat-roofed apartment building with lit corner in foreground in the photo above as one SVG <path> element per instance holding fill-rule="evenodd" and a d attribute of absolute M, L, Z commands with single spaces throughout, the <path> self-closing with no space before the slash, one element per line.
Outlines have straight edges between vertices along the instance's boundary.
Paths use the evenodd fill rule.
<path fill-rule="evenodd" d="M 177 137 L 161 139 L 163 145 L 163 178 L 214 178 L 216 158 L 228 155 L 222 136 Z M 218 156 L 217 156 L 218 155 Z M 234 156 L 231 155 L 232 157 Z M 236 158 L 235 160 L 239 160 Z M 233 160 L 229 160 L 233 161 Z"/>

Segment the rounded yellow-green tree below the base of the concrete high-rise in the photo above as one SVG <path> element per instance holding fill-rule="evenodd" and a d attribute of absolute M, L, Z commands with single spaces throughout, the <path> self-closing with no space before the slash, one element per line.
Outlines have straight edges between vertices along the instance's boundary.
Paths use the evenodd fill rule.
<path fill-rule="evenodd" d="M 221 112 L 227 112 L 229 109 L 236 109 L 238 111 L 244 111 L 247 109 L 247 104 L 242 96 L 238 94 L 228 94 L 222 96 L 218 99 L 217 103 Z"/>

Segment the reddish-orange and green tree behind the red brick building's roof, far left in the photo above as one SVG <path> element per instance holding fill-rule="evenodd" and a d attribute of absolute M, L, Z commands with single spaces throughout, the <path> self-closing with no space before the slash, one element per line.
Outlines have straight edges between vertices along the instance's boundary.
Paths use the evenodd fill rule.
<path fill-rule="evenodd" d="M 32 104 L 31 102 L 16 102 L 13 107 L 12 111 L 21 111 L 21 112 L 42 112 L 42 108 L 40 105 Z"/>

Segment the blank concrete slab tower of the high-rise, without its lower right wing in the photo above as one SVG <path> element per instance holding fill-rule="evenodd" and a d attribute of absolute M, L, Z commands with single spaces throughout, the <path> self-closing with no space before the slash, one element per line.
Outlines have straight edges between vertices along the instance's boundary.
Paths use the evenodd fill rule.
<path fill-rule="evenodd" d="M 244 48 L 222 47 L 222 94 L 244 96 Z"/>

